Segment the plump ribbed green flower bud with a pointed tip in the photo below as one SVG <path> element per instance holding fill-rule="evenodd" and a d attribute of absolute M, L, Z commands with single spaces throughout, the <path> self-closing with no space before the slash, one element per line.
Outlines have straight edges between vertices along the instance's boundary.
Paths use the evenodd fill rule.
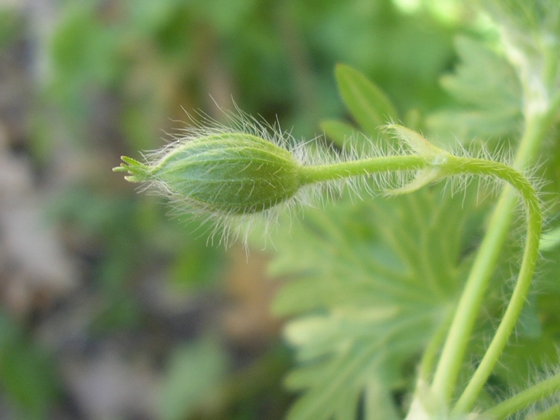
<path fill-rule="evenodd" d="M 301 168 L 285 148 L 252 134 L 209 134 L 171 144 L 153 163 L 123 156 L 116 172 L 160 187 L 195 210 L 253 214 L 290 200 L 302 185 Z"/>

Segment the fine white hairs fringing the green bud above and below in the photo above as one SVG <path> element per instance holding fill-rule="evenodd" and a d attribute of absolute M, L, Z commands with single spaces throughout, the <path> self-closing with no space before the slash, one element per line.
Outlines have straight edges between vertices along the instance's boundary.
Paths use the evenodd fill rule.
<path fill-rule="evenodd" d="M 202 112 L 197 112 L 194 116 L 187 113 L 188 125 L 171 134 L 172 141 L 157 151 L 149 151 L 143 154 L 146 164 L 150 166 L 158 165 L 169 153 L 181 148 L 188 141 L 228 133 L 250 134 L 265 139 L 288 151 L 295 162 L 301 166 L 326 165 L 339 161 L 339 157 L 332 153 L 332 150 L 326 150 L 323 146 L 316 145 L 318 140 L 321 140 L 320 138 L 311 141 L 296 141 L 290 132 L 283 132 L 279 124 L 269 125 L 257 120 L 241 111 L 237 105 L 235 105 L 235 111 L 225 111 L 223 109 L 221 111 L 225 116 L 225 123 L 220 123 Z M 173 216 L 179 216 L 186 212 L 198 216 L 202 220 L 201 225 L 210 226 L 205 231 L 209 235 L 209 244 L 222 244 L 228 247 L 232 242 L 241 239 L 244 246 L 247 247 L 249 231 L 253 225 L 260 225 L 263 236 L 267 239 L 269 230 L 277 224 L 279 215 L 284 211 L 289 212 L 293 209 L 321 202 L 325 195 L 328 197 L 340 195 L 343 186 L 344 183 L 339 181 L 323 186 L 303 186 L 297 190 L 293 197 L 272 207 L 263 208 L 262 211 L 250 209 L 250 211 L 242 211 L 241 213 L 216 211 L 204 206 L 193 205 L 189 197 L 183 197 L 169 190 L 165 183 L 160 183 L 157 180 L 148 181 L 141 188 L 145 190 L 149 187 L 155 187 L 155 191 L 159 195 L 163 195 L 169 200 L 173 207 L 171 211 Z"/>

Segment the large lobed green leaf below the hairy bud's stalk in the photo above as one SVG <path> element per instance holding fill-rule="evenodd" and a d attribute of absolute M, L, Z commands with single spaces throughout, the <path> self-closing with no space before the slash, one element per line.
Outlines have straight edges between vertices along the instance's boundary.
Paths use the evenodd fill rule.
<path fill-rule="evenodd" d="M 362 400 L 365 418 L 395 417 L 387 396 L 461 291 L 472 190 L 463 200 L 439 188 L 344 200 L 274 238 L 273 274 L 295 276 L 273 307 L 295 316 L 286 337 L 299 367 L 286 384 L 302 394 L 289 419 L 353 419 Z"/>

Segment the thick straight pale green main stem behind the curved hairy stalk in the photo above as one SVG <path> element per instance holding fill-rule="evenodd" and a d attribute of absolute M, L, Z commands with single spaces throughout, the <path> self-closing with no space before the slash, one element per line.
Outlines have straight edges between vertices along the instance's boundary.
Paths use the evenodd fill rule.
<path fill-rule="evenodd" d="M 527 64 L 526 57 L 519 59 L 515 42 L 510 39 L 507 30 L 503 31 L 503 42 L 506 47 L 506 55 L 509 53 L 510 62 L 516 67 L 523 90 L 525 127 L 516 153 L 514 168 L 524 171 L 535 161 L 542 140 L 554 122 L 555 114 L 560 107 L 559 92 L 556 92 L 555 97 L 546 97 L 547 92 L 552 92 L 554 81 L 557 78 L 558 57 L 555 50 L 556 45 L 546 48 L 544 51 L 545 69 L 542 74 L 535 74 Z M 542 86 L 535 85 L 535 80 L 537 83 L 542 80 Z M 456 316 L 449 330 L 449 337 L 444 344 L 433 384 L 434 391 L 446 395 L 447 400 L 450 400 L 454 393 L 461 360 L 464 358 L 468 345 L 468 337 L 472 334 L 472 328 L 488 288 L 491 274 L 510 228 L 514 206 L 515 199 L 510 188 L 505 188 L 493 211 L 489 228 L 458 303 Z"/>

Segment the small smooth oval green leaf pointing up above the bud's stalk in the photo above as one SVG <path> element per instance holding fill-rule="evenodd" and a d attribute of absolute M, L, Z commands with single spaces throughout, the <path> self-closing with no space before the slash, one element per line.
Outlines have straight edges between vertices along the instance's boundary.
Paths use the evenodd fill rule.
<path fill-rule="evenodd" d="M 337 64 L 335 75 L 346 108 L 366 134 L 375 138 L 381 125 L 398 120 L 386 94 L 358 70 Z"/>

